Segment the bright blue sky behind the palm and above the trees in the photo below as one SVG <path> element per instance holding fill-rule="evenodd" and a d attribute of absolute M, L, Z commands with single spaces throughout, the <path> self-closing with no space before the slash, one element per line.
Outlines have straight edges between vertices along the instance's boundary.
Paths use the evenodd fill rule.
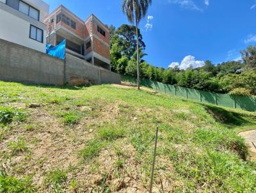
<path fill-rule="evenodd" d="M 129 24 L 122 0 L 44 0 L 50 12 L 60 4 L 81 19 L 93 13 L 104 24 Z M 152 0 L 140 22 L 144 59 L 154 66 L 203 66 L 241 59 L 240 50 L 256 45 L 256 0 Z"/>

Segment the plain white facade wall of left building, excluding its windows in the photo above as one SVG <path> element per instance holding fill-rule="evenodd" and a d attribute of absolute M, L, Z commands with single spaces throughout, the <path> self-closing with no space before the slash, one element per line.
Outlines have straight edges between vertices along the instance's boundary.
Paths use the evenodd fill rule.
<path fill-rule="evenodd" d="M 3 0 L 0 0 L 3 1 Z M 17 43 L 31 49 L 45 52 L 46 31 L 44 30 L 44 42 L 37 42 L 29 38 L 30 23 L 26 20 L 0 10 L 0 38 Z"/>

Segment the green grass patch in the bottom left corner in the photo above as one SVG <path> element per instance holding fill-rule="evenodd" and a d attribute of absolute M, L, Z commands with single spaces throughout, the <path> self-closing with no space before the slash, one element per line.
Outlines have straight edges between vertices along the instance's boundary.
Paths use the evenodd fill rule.
<path fill-rule="evenodd" d="M 6 193 L 33 193 L 36 192 L 31 178 L 18 179 L 0 173 L 0 192 Z"/>

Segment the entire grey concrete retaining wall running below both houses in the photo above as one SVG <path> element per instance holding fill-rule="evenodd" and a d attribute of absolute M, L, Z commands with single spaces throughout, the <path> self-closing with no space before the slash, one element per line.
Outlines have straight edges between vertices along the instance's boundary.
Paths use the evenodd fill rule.
<path fill-rule="evenodd" d="M 0 39 L 0 79 L 34 84 L 120 84 L 117 73 L 67 54 L 66 61 Z"/>

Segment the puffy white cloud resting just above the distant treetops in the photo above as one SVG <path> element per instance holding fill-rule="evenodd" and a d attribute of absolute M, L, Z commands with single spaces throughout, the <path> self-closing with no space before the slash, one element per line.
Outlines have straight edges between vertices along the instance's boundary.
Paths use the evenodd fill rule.
<path fill-rule="evenodd" d="M 194 56 L 186 56 L 182 62 L 179 64 L 177 62 L 173 62 L 169 65 L 169 68 L 174 68 L 178 66 L 180 69 L 186 70 L 187 68 L 198 68 L 205 65 L 204 61 L 197 61 Z"/>

